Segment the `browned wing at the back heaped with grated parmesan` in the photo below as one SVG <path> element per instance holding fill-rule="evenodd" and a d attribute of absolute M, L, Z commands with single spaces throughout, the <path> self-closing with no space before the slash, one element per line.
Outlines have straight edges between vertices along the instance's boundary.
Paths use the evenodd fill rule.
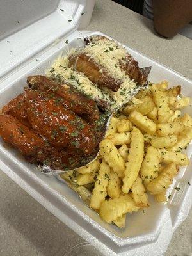
<path fill-rule="evenodd" d="M 114 92 L 125 79 L 134 79 L 140 86 L 146 83 L 147 77 L 141 72 L 138 62 L 114 40 L 92 36 L 86 42 L 86 47 L 70 54 L 69 65 L 83 72 L 93 83 Z"/>

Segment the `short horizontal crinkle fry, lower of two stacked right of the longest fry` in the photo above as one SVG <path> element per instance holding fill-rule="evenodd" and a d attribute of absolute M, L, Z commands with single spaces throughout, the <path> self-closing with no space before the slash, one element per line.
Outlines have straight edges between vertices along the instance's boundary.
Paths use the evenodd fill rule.
<path fill-rule="evenodd" d="M 177 136 L 175 134 L 152 138 L 151 145 L 155 148 L 169 148 L 177 142 Z"/>

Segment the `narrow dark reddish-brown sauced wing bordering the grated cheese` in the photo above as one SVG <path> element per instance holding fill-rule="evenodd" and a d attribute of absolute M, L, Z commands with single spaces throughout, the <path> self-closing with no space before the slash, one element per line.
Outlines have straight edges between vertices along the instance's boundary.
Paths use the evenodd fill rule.
<path fill-rule="evenodd" d="M 65 99 L 65 105 L 77 115 L 86 114 L 88 120 L 99 119 L 99 110 L 94 100 L 74 92 L 67 84 L 60 84 L 45 76 L 29 76 L 27 79 L 29 88 L 42 92 L 57 93 Z"/>

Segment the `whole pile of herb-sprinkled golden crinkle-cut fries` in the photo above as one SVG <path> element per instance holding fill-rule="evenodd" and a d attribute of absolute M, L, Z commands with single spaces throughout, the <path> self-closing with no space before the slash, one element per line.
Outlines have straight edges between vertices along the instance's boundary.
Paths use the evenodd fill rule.
<path fill-rule="evenodd" d="M 61 177 L 104 221 L 123 228 L 128 212 L 150 205 L 147 192 L 165 202 L 179 166 L 189 164 L 182 149 L 192 139 L 192 118 L 180 112 L 189 100 L 180 86 L 150 84 L 111 118 L 99 157 Z"/>

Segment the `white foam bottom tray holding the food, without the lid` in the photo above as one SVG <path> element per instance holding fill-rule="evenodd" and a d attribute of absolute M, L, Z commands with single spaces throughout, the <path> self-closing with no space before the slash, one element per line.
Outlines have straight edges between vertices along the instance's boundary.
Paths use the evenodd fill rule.
<path fill-rule="evenodd" d="M 75 31 L 52 45 L 47 51 L 34 56 L 28 63 L 22 63 L 17 70 L 4 77 L 0 83 L 0 108 L 23 91 L 27 76 L 45 74 L 53 60 L 60 54 L 68 53 L 71 47 L 82 46 L 84 44 L 82 38 L 90 35 L 104 34 Z M 66 40 L 68 44 L 65 43 Z M 182 93 L 192 97 L 192 84 L 188 79 L 139 52 L 126 48 L 139 62 L 140 67 L 152 66 L 150 81 L 158 82 L 166 79 L 170 86 L 180 84 Z M 191 109 L 186 108 L 186 112 L 190 115 L 192 115 Z M 192 145 L 189 145 L 187 150 L 189 157 L 192 152 L 191 147 Z M 168 191 L 172 194 L 172 199 L 168 204 L 157 204 L 152 196 L 149 196 L 150 207 L 144 212 L 141 210 L 132 215 L 128 214 L 124 230 L 104 223 L 99 215 L 89 209 L 67 185 L 54 177 L 42 174 L 36 166 L 27 163 L 16 150 L 4 146 L 1 139 L 0 168 L 52 214 L 105 255 L 125 255 L 127 251 L 129 255 L 151 255 L 154 250 L 153 255 L 161 255 L 166 250 L 173 231 L 186 218 L 191 207 L 192 189 L 188 185 L 192 176 L 191 166 L 182 168 L 182 172 L 173 181 Z M 181 185 L 177 185 L 178 183 Z M 174 186 L 180 186 L 180 191 L 175 191 Z M 162 238 L 164 236 L 166 239 Z"/>

